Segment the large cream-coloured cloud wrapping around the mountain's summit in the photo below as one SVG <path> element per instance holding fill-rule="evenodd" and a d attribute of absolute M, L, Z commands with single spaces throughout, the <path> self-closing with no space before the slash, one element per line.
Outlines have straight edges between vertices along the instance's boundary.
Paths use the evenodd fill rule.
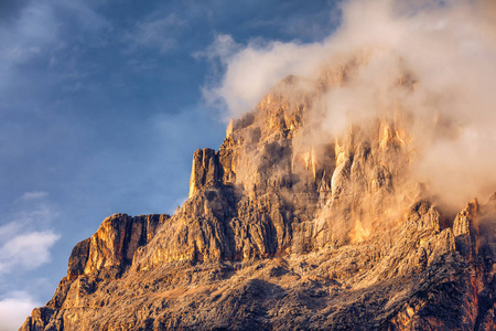
<path fill-rule="evenodd" d="M 377 117 L 393 120 L 398 109 L 413 114 L 417 179 L 445 203 L 464 205 L 496 190 L 494 9 L 490 1 L 345 1 L 341 26 L 323 42 L 239 47 L 225 38 L 237 50 L 226 52 L 222 43 L 209 50 L 225 71 L 205 96 L 237 118 L 289 74 L 317 82 L 331 68 L 348 67 L 344 84 L 315 102 L 314 136 L 330 139 Z"/>

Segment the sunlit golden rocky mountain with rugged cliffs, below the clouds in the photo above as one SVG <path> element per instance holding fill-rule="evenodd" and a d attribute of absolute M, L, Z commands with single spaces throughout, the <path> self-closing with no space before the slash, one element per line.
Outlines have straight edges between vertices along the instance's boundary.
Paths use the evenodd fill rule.
<path fill-rule="evenodd" d="M 410 175 L 408 114 L 313 139 L 348 70 L 231 121 L 173 216 L 106 218 L 21 330 L 494 330 L 496 199 L 443 216 Z"/>

